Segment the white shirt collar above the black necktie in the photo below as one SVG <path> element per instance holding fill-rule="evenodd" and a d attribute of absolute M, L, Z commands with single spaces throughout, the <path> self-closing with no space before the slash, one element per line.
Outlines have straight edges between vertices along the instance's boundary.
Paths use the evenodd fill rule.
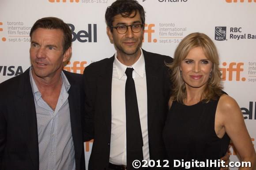
<path fill-rule="evenodd" d="M 136 63 L 134 63 L 132 66 L 129 66 L 129 68 L 133 68 L 134 71 L 143 78 L 144 73 L 145 73 L 145 59 L 144 59 L 144 55 L 142 52 L 142 49 L 140 48 L 141 51 L 141 55 L 139 56 L 139 59 L 136 61 Z M 123 63 L 121 63 L 118 59 L 117 59 L 117 52 L 115 53 L 115 59 L 114 59 L 114 64 L 116 66 L 117 69 L 117 75 L 118 78 L 121 79 L 124 74 L 125 74 L 125 70 L 128 66 L 124 65 Z"/>

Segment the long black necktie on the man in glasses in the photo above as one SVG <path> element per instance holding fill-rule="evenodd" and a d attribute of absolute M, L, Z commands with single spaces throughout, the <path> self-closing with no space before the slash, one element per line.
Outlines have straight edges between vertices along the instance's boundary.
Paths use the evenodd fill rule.
<path fill-rule="evenodd" d="M 135 159 L 143 160 L 143 138 L 132 71 L 133 68 L 127 68 L 125 71 L 127 76 L 125 83 L 127 170 L 134 169 L 132 162 Z"/>

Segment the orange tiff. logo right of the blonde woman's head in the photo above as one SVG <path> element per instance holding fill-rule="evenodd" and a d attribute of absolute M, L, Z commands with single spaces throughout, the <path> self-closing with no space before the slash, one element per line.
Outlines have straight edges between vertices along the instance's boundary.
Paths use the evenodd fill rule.
<path fill-rule="evenodd" d="M 240 81 L 240 73 L 244 71 L 242 66 L 244 63 L 235 63 L 232 62 L 229 64 L 228 68 L 225 68 L 227 66 L 227 63 L 222 63 L 222 66 L 225 66 L 223 68 L 220 68 L 220 71 L 222 72 L 222 80 L 226 81 L 227 75 L 228 75 L 228 81 L 233 81 L 233 73 L 235 73 L 236 81 Z M 246 78 L 241 78 L 241 81 L 245 81 Z"/>

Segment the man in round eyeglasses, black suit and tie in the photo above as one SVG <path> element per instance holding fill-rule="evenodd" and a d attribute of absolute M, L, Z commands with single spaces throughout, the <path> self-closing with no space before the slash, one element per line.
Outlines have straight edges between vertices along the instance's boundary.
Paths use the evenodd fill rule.
<path fill-rule="evenodd" d="M 89 170 L 133 170 L 135 159 L 167 158 L 162 140 L 170 93 L 165 62 L 172 58 L 141 48 L 145 12 L 136 0 L 113 2 L 105 20 L 117 52 L 90 64 L 83 74 L 86 117 L 94 127 Z"/>

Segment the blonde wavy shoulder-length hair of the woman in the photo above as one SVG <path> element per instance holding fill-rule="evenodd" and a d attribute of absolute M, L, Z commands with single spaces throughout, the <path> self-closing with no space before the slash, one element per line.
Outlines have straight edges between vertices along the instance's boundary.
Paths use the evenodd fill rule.
<path fill-rule="evenodd" d="M 181 62 L 187 57 L 188 52 L 192 48 L 202 47 L 204 55 L 213 63 L 212 75 L 209 78 L 205 89 L 201 95 L 201 100 L 209 102 L 210 100 L 216 100 L 218 96 L 222 95 L 222 82 L 221 72 L 219 70 L 219 57 L 217 48 L 211 38 L 204 33 L 191 33 L 184 37 L 181 43 L 178 45 L 174 52 L 173 62 L 166 64 L 171 70 L 171 80 L 173 82 L 171 100 L 177 100 L 183 103 L 183 100 L 187 97 L 185 82 L 180 74 Z"/>

